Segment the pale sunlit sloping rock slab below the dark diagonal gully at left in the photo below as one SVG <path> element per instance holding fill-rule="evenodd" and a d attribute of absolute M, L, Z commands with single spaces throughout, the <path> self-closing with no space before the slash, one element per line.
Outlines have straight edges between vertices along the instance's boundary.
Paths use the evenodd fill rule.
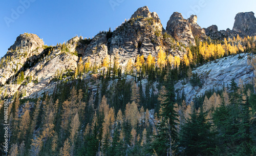
<path fill-rule="evenodd" d="M 28 68 L 21 68 L 24 72 L 24 78 L 31 78 L 31 81 L 24 85 L 23 83 L 10 83 L 3 86 L 2 91 L 7 91 L 7 95 L 10 97 L 17 91 L 23 94 L 23 97 L 36 98 L 42 96 L 45 92 L 51 94 L 54 90 L 54 86 L 57 84 L 53 79 L 56 76 L 61 77 L 70 71 L 75 71 L 77 68 L 78 57 L 75 54 L 77 42 L 79 37 L 70 39 L 67 43 L 63 43 L 56 47 L 50 47 L 47 54 L 44 54 L 46 50 L 42 49 L 42 53 L 45 55 L 40 57 L 40 61 L 32 64 Z M 24 49 L 29 49 L 28 46 L 24 46 Z M 63 48 L 65 47 L 65 48 Z M 36 48 L 37 49 L 37 48 Z M 8 71 L 4 68 L 3 71 Z M 15 73 L 14 73 L 15 74 Z M 13 78 L 15 81 L 17 78 Z M 2 92 L 2 96 L 3 96 Z"/>

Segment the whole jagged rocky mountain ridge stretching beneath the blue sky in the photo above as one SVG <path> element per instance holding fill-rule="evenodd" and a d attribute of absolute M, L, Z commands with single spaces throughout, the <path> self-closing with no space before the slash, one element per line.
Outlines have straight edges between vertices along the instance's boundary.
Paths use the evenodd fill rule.
<path fill-rule="evenodd" d="M 233 30 L 236 30 L 235 25 L 237 23 L 241 23 L 238 19 L 241 14 L 241 20 L 245 23 L 243 27 L 254 23 L 255 17 L 252 17 L 254 13 L 238 13 Z M 246 23 L 248 20 L 244 20 L 243 14 L 249 14 L 249 21 L 252 22 Z M 32 77 L 33 81 L 39 79 L 39 83 L 30 84 L 31 88 L 20 86 L 9 88 L 10 91 L 8 92 L 10 95 L 13 95 L 17 90 L 26 90 L 26 92 L 32 93 L 33 88 L 44 88 L 48 85 L 57 73 L 67 74 L 68 71 L 75 71 L 81 60 L 84 63 L 101 65 L 104 60 L 115 62 L 115 59 L 118 59 L 124 70 L 129 61 L 132 63 L 137 61 L 136 57 L 138 55 L 142 55 L 145 60 L 148 55 L 152 55 L 157 61 L 157 55 L 161 50 L 167 54 L 183 58 L 184 54 L 188 55 L 185 47 L 189 44 L 196 45 L 194 36 L 197 36 L 200 40 L 206 40 L 207 37 L 212 39 L 231 38 L 238 34 L 241 34 L 241 37 L 243 36 L 241 31 L 233 30 L 218 31 L 217 26 L 202 29 L 197 24 L 196 15 L 184 19 L 178 12 L 174 12 L 170 16 L 165 30 L 157 13 L 150 12 L 148 7 L 144 6 L 135 11 L 131 19 L 125 21 L 115 31 L 100 32 L 92 39 L 83 39 L 76 36 L 67 43 L 48 47 L 37 35 L 25 33 L 17 37 L 4 58 L 10 57 L 10 54 L 15 54 L 17 49 L 23 55 L 24 53 L 28 54 L 26 54 L 27 56 L 19 56 L 23 61 L 12 58 L 12 60 L 15 60 L 13 62 L 16 63 L 7 64 L 6 68 L 0 71 L 0 83 L 3 86 L 6 82 L 15 81 L 18 76 L 17 73 L 20 73 L 20 70 L 25 70 L 24 66 L 28 66 L 28 69 L 24 71 L 25 78 Z M 177 46 L 179 42 L 184 46 Z M 24 48 L 26 52 L 23 52 Z M 81 57 L 80 61 L 78 56 Z M 40 62 L 38 62 L 39 58 Z M 5 90 L 7 90 L 7 87 Z"/>

